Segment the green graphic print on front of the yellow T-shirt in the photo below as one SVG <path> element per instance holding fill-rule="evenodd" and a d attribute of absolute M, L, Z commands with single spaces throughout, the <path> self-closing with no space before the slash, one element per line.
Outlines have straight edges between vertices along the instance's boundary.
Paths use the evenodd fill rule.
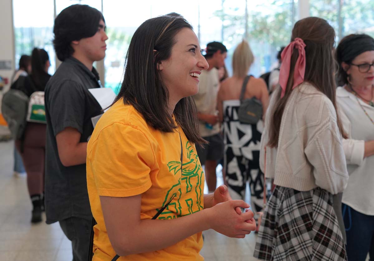
<path fill-rule="evenodd" d="M 182 172 L 180 161 L 170 161 L 168 163 L 169 171 L 175 176 L 179 176 L 179 179 L 178 183 L 173 185 L 166 193 L 162 207 L 172 198 L 173 200 L 158 219 L 179 218 L 203 209 L 201 201 L 203 198 L 202 182 L 204 182 L 204 172 L 190 142 L 186 143 L 186 151 L 188 161 L 186 163 L 183 162 Z"/>

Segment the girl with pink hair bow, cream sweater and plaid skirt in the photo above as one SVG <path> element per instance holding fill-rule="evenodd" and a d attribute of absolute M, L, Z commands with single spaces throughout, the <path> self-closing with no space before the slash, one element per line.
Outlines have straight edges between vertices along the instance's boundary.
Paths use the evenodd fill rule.
<path fill-rule="evenodd" d="M 275 189 L 261 220 L 261 260 L 346 260 L 333 195 L 346 188 L 343 129 L 336 110 L 334 29 L 298 21 L 282 52 L 280 88 L 270 100 L 260 168 Z"/>

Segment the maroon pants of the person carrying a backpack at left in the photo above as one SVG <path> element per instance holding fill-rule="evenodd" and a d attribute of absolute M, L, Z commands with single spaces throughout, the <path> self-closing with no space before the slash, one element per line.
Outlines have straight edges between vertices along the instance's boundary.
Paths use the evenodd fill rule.
<path fill-rule="evenodd" d="M 31 195 L 44 191 L 46 124 L 28 122 L 25 129 L 23 151 L 21 140 L 16 140 L 16 148 L 21 154 L 27 173 L 27 187 Z"/>

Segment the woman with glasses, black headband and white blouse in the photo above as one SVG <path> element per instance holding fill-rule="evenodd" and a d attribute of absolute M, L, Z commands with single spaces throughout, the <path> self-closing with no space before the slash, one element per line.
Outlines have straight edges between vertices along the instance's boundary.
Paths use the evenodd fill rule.
<path fill-rule="evenodd" d="M 344 37 L 336 51 L 337 103 L 348 140 L 343 141 L 349 180 L 342 211 L 348 260 L 374 259 L 374 39 Z"/>

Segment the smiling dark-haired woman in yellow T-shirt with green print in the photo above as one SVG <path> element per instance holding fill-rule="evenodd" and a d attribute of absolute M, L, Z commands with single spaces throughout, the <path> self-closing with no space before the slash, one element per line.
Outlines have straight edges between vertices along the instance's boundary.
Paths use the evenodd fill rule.
<path fill-rule="evenodd" d="M 243 238 L 255 230 L 249 205 L 222 185 L 203 194 L 191 95 L 208 68 L 192 27 L 159 16 L 135 31 L 122 87 L 87 148 L 93 260 L 203 260 L 202 231 Z"/>

